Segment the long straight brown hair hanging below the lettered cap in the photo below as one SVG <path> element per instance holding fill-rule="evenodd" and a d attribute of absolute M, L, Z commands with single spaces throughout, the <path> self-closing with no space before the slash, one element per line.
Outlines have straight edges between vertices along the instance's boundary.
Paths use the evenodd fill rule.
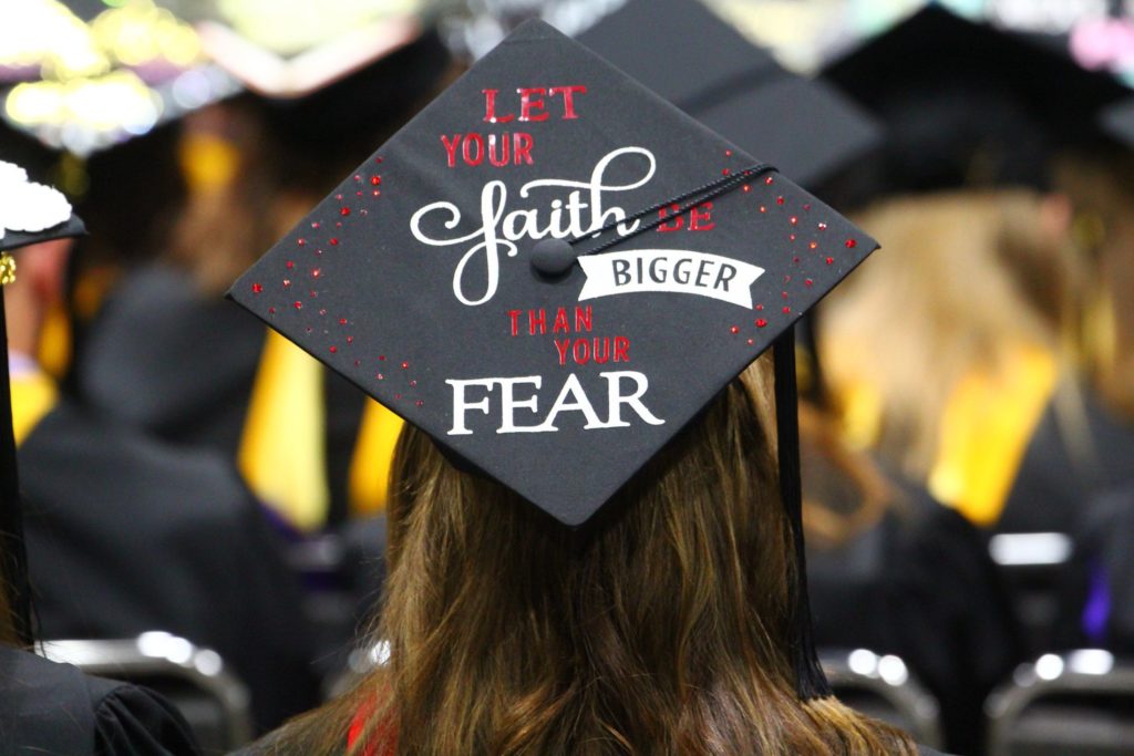
<path fill-rule="evenodd" d="M 341 754 L 354 722 L 376 754 L 915 753 L 796 697 L 767 366 L 750 372 L 578 529 L 407 426 L 373 636 L 390 661 L 269 750 Z"/>

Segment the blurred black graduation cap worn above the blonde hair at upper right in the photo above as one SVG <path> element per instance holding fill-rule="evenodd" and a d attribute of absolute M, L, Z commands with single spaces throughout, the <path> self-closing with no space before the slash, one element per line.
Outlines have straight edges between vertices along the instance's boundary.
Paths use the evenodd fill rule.
<path fill-rule="evenodd" d="M 823 73 L 889 129 L 888 190 L 1047 188 L 1050 151 L 1093 138 L 1093 113 L 1128 93 L 1076 63 L 1064 37 L 1000 31 L 938 5 Z"/>

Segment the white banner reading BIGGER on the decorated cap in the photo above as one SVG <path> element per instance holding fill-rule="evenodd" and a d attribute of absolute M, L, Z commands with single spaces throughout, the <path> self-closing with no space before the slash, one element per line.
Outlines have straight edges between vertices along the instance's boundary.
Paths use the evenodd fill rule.
<path fill-rule="evenodd" d="M 764 269 L 721 255 L 687 249 L 629 249 L 584 255 L 586 282 L 578 300 L 637 291 L 712 297 L 752 308 L 752 283 Z"/>

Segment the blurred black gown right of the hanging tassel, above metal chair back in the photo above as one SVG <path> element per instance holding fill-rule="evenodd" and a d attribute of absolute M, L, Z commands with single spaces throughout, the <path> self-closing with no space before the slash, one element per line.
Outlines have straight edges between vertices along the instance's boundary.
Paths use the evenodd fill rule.
<path fill-rule="evenodd" d="M 807 575 L 819 646 L 900 656 L 940 703 L 947 746 L 981 753 L 984 698 L 1024 649 L 978 529 L 914 491 L 841 546 L 809 547 Z"/>

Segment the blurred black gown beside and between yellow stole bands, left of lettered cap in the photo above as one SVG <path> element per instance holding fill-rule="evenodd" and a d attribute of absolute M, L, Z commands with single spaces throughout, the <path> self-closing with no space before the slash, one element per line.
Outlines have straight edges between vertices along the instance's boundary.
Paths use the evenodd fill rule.
<path fill-rule="evenodd" d="M 91 328 L 77 366 L 84 401 L 175 443 L 236 459 L 264 326 L 242 307 L 202 296 L 169 265 L 132 273 Z M 347 481 L 365 397 L 323 369 L 328 520 L 347 516 Z"/>

